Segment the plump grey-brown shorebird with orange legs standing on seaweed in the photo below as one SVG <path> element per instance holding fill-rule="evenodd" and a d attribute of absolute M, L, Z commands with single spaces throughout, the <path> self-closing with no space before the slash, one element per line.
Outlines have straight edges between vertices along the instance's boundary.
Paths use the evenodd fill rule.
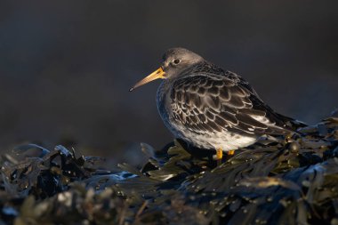
<path fill-rule="evenodd" d="M 302 125 L 270 108 L 241 76 L 181 47 L 167 50 L 161 66 L 129 91 L 156 79 L 163 79 L 156 100 L 165 126 L 194 147 L 216 150 L 217 160 Z"/>

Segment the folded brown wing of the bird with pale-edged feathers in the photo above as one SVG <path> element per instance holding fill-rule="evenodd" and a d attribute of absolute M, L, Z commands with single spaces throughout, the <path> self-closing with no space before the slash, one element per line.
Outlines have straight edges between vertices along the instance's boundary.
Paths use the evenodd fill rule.
<path fill-rule="evenodd" d="M 170 95 L 173 119 L 199 134 L 224 130 L 245 135 L 290 133 L 243 82 L 226 76 L 178 79 Z"/>

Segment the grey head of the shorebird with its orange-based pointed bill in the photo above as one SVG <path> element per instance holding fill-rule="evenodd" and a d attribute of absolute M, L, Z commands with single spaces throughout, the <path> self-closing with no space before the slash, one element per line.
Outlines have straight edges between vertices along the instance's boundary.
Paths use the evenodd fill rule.
<path fill-rule="evenodd" d="M 184 70 L 203 60 L 204 59 L 195 52 L 184 48 L 171 48 L 163 55 L 162 65 L 149 76 L 144 77 L 141 81 L 133 85 L 129 91 L 131 92 L 135 88 L 159 78 L 170 79 L 180 76 Z"/>

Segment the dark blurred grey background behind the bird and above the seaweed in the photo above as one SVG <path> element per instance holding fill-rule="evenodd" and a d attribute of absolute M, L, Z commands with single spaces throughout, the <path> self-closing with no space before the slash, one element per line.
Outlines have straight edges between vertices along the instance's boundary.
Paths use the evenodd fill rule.
<path fill-rule="evenodd" d="M 2 0 L 0 149 L 63 143 L 137 161 L 140 142 L 163 147 L 173 138 L 157 115 L 159 82 L 128 89 L 173 46 L 316 123 L 338 107 L 337 3 Z"/>

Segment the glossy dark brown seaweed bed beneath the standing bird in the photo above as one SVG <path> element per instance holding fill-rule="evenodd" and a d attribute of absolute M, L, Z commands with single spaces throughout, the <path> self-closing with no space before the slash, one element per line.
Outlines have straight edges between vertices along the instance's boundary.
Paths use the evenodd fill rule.
<path fill-rule="evenodd" d="M 0 224 L 338 224 L 338 113 L 221 165 L 174 141 L 111 172 L 72 149 L 2 157 Z M 137 149 L 135 149 L 136 151 Z"/>

